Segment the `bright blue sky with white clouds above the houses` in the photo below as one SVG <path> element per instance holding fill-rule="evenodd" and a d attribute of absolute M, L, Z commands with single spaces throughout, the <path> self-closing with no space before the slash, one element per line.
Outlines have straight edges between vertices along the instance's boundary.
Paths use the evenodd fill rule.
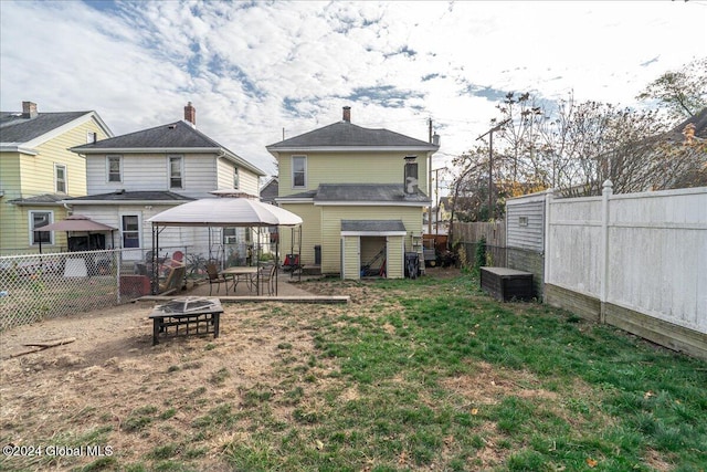
<path fill-rule="evenodd" d="M 123 135 L 183 118 L 266 174 L 265 146 L 341 119 L 478 144 L 508 92 L 637 106 L 707 56 L 697 1 L 0 1 L 0 109 L 96 111 Z"/>

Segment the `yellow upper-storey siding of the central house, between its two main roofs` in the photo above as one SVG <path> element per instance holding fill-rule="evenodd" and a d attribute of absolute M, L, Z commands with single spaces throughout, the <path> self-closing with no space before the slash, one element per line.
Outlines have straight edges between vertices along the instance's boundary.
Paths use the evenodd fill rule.
<path fill-rule="evenodd" d="M 408 153 L 409 154 L 409 153 Z M 404 157 L 407 153 L 331 153 L 331 154 L 283 154 L 279 165 L 279 196 L 288 196 L 304 190 L 316 190 L 320 183 L 397 183 L 403 182 Z M 292 156 L 307 156 L 307 187 L 292 186 Z M 428 193 L 428 158 L 418 155 L 418 178 L 420 190 Z M 374 171 L 373 171 L 374 169 Z"/>

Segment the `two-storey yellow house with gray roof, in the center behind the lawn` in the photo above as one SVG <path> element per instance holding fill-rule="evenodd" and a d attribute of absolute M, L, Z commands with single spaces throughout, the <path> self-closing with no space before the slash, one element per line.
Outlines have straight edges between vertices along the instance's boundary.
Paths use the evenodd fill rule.
<path fill-rule="evenodd" d="M 405 275 L 405 254 L 422 261 L 422 214 L 430 206 L 428 162 L 439 146 L 388 129 L 341 122 L 270 145 L 278 198 L 304 220 L 282 235 L 284 253 L 344 279 Z"/>

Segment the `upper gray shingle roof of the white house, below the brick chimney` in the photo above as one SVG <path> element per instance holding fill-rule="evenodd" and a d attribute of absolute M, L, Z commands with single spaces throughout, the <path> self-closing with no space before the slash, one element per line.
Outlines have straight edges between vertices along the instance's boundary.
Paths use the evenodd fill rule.
<path fill-rule="evenodd" d="M 219 143 L 184 122 L 170 123 L 72 148 L 76 153 L 101 149 L 222 148 Z"/>

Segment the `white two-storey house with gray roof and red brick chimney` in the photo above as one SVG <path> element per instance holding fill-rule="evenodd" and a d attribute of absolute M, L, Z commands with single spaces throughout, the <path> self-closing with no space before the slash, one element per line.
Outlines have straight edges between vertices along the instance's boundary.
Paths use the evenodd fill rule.
<path fill-rule="evenodd" d="M 200 198 L 217 198 L 214 190 L 257 197 L 265 172 L 196 127 L 196 109 L 184 107 L 184 119 L 71 149 L 86 159 L 88 195 L 64 200 L 76 213 L 119 230 L 124 258 L 143 259 L 151 249 L 151 225 L 146 220 L 168 208 Z M 161 248 L 184 251 L 244 251 L 250 233 L 243 229 L 167 229 Z M 168 254 L 169 255 L 169 254 Z"/>

